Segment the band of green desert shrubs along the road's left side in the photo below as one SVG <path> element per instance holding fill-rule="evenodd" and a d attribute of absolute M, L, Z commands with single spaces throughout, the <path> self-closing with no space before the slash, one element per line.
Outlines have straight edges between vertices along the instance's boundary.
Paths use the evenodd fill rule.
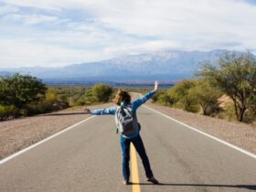
<path fill-rule="evenodd" d="M 0 78 L 0 121 L 53 112 L 77 105 L 111 101 L 114 89 L 96 84 L 85 87 L 48 87 L 30 75 Z"/>

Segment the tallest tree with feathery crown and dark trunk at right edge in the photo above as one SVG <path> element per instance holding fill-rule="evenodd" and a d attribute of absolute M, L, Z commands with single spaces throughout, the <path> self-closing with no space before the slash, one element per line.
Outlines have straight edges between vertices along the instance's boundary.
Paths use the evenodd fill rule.
<path fill-rule="evenodd" d="M 256 95 L 256 60 L 251 53 L 226 53 L 220 57 L 218 66 L 205 62 L 197 74 L 231 98 L 237 120 L 242 122 L 251 98 Z"/>

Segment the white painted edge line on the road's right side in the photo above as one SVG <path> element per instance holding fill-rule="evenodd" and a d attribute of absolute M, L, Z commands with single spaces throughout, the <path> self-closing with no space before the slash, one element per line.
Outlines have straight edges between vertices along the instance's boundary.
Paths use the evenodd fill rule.
<path fill-rule="evenodd" d="M 176 119 L 174 119 L 174 118 L 172 118 L 172 117 L 169 117 L 168 115 L 166 115 L 166 114 L 164 114 L 164 113 L 162 113 L 162 112 L 158 112 L 158 111 L 156 111 L 156 110 L 154 110 L 154 109 L 152 109 L 152 108 L 150 108 L 150 107 L 148 107 L 148 106 L 145 106 L 145 105 L 144 105 L 144 107 L 147 108 L 147 109 L 149 109 L 149 110 L 151 110 L 151 111 L 153 111 L 153 112 L 156 112 L 156 113 L 158 113 L 158 114 L 161 114 L 161 115 L 165 116 L 166 118 L 168 118 L 168 119 L 170 119 L 170 120 L 172 120 L 172 121 L 174 121 L 174 122 L 176 122 L 176 123 L 180 123 L 180 124 L 186 126 L 188 129 L 191 129 L 191 130 L 193 130 L 193 131 L 195 131 L 195 132 L 197 132 L 197 133 L 201 133 L 201 134 L 203 134 L 203 135 L 205 135 L 205 136 L 208 136 L 209 138 L 214 139 L 215 141 L 218 141 L 218 142 L 221 143 L 221 144 L 226 144 L 226 145 L 228 145 L 229 147 L 231 147 L 231 148 L 233 148 L 233 149 L 235 149 L 235 150 L 238 150 L 238 151 L 240 151 L 241 153 L 243 153 L 243 154 L 245 154 L 245 155 L 249 155 L 249 156 L 251 156 L 252 158 L 256 159 L 256 155 L 252 154 L 251 152 L 248 152 L 248 151 L 246 151 L 246 150 L 244 150 L 244 149 L 241 149 L 240 147 L 235 146 L 235 145 L 233 145 L 233 144 L 229 144 L 228 142 L 225 142 L 225 141 L 223 141 L 223 140 L 221 140 L 221 139 L 219 139 L 219 138 L 217 138 L 217 137 L 215 137 L 215 136 L 212 136 L 212 135 L 210 135 L 210 134 L 208 134 L 208 133 L 204 133 L 204 132 L 202 132 L 202 131 L 199 131 L 199 130 L 197 130 L 196 128 L 194 128 L 194 127 L 192 127 L 192 126 L 187 125 L 186 123 L 179 122 L 179 121 L 177 121 Z"/>

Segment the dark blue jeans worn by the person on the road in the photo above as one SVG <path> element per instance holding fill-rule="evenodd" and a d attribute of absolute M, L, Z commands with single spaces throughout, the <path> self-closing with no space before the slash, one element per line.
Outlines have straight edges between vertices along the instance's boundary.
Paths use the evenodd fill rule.
<path fill-rule="evenodd" d="M 123 151 L 123 178 L 124 180 L 128 180 L 130 178 L 130 168 L 129 168 L 129 161 L 130 161 L 130 144 L 133 143 L 136 151 L 140 155 L 144 170 L 145 170 L 145 176 L 151 177 L 153 176 L 152 170 L 150 168 L 148 157 L 145 153 L 144 149 L 144 143 L 140 136 L 140 134 L 133 139 L 127 139 L 121 136 L 121 146 Z"/>

